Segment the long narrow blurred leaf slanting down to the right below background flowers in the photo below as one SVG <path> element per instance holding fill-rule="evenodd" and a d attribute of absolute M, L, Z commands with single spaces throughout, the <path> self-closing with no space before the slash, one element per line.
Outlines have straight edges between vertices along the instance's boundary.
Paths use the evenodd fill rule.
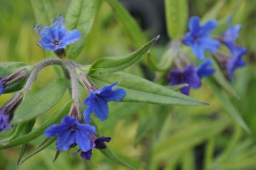
<path fill-rule="evenodd" d="M 207 84 L 209 84 L 211 86 L 213 93 L 218 96 L 219 100 L 221 101 L 221 104 L 227 110 L 227 112 L 229 113 L 231 118 L 236 120 L 236 122 L 241 127 L 243 127 L 247 133 L 250 134 L 251 131 L 250 131 L 249 127 L 246 125 L 246 123 L 244 122 L 243 118 L 241 117 L 241 114 L 235 108 L 233 103 L 231 103 L 231 101 L 229 100 L 227 95 L 225 95 L 223 93 L 223 91 L 218 86 L 216 86 L 213 82 L 211 82 L 210 80 L 207 80 Z"/>

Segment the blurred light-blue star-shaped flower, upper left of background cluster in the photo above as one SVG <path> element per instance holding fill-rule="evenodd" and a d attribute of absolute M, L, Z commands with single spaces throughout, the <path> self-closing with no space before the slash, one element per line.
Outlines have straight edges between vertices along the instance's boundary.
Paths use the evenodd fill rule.
<path fill-rule="evenodd" d="M 211 20 L 200 26 L 198 17 L 189 19 L 189 32 L 186 34 L 183 43 L 191 46 L 193 53 L 199 60 L 204 59 L 204 51 L 214 52 L 220 47 L 220 43 L 210 37 L 211 31 L 217 27 L 217 21 Z"/>

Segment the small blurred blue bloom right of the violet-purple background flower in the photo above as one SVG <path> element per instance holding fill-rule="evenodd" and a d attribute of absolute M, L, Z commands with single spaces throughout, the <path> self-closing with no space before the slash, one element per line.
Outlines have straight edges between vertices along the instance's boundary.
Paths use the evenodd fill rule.
<path fill-rule="evenodd" d="M 215 69 L 212 66 L 212 60 L 206 59 L 204 63 L 197 67 L 197 75 L 199 78 L 211 76 L 214 74 Z"/>

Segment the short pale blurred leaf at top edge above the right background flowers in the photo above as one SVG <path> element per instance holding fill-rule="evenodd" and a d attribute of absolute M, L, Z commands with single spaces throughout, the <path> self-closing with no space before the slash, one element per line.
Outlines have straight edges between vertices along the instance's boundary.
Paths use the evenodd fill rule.
<path fill-rule="evenodd" d="M 226 0 L 220 0 L 216 2 L 215 5 L 211 7 L 211 9 L 206 14 L 204 14 L 204 16 L 201 19 L 202 23 L 207 22 L 211 19 L 216 19 L 217 15 L 220 13 L 220 10 L 225 5 L 225 3 Z"/>

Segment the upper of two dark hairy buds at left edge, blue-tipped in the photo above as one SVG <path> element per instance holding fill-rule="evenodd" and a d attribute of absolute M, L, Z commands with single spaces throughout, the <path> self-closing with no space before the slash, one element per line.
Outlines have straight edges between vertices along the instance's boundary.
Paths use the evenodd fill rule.
<path fill-rule="evenodd" d="M 20 82 L 22 79 L 25 79 L 29 75 L 29 70 L 23 68 L 14 74 L 0 77 L 0 95 L 3 94 L 4 89 L 7 86 L 11 86 L 14 83 Z"/>

